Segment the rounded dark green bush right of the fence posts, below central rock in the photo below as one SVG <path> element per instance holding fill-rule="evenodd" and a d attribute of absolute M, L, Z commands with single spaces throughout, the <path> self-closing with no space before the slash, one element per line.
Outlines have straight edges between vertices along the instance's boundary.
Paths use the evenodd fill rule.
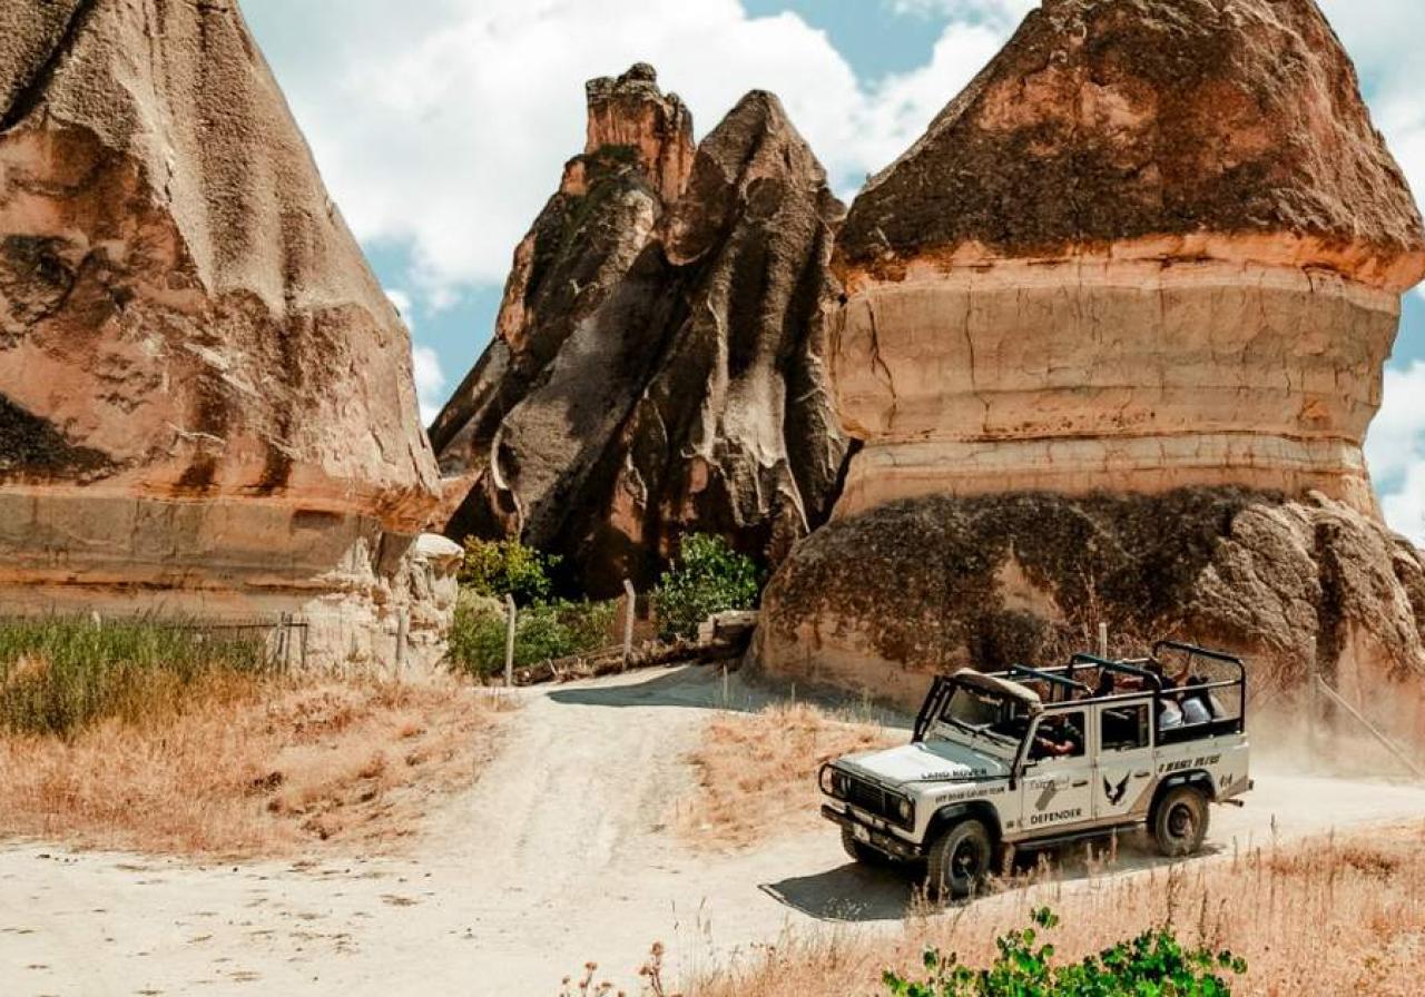
<path fill-rule="evenodd" d="M 714 612 L 751 610 L 761 588 L 762 573 L 752 558 L 734 551 L 722 537 L 688 534 L 653 593 L 660 634 L 693 637 Z"/>

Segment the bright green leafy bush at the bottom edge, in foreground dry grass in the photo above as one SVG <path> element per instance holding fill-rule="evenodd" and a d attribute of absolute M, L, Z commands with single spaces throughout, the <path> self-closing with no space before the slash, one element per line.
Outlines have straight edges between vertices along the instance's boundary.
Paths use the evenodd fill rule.
<path fill-rule="evenodd" d="M 1054 947 L 1037 949 L 1036 929 L 1053 929 L 1059 919 L 1047 907 L 1033 914 L 1035 927 L 1010 931 L 995 944 L 999 959 L 986 970 L 960 966 L 952 953 L 926 950 L 923 983 L 886 970 L 892 997 L 1230 997 L 1223 974 L 1241 974 L 1247 963 L 1230 951 L 1184 949 L 1167 927 L 1120 941 L 1082 963 L 1056 966 Z"/>

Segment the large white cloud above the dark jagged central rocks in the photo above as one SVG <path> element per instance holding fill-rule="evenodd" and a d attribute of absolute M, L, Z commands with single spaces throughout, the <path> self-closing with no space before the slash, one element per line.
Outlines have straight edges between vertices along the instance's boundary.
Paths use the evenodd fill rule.
<path fill-rule="evenodd" d="M 1005 6 L 1025 4 L 989 4 Z M 348 222 L 368 245 L 409 244 L 408 289 L 423 308 L 504 279 L 561 164 L 581 150 L 589 77 L 653 63 L 700 134 L 748 90 L 771 90 L 849 194 L 923 131 L 1007 30 L 952 24 L 926 67 L 866 85 L 825 33 L 791 13 L 750 17 L 738 0 L 244 9 Z"/>

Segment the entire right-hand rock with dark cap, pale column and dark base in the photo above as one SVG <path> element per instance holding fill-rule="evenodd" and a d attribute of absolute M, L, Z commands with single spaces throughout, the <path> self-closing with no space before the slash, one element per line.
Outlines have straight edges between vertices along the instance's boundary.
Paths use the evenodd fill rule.
<path fill-rule="evenodd" d="M 854 204 L 865 442 L 767 669 L 893 689 L 1090 620 L 1425 671 L 1361 440 L 1425 234 L 1311 0 L 1047 0 Z"/>

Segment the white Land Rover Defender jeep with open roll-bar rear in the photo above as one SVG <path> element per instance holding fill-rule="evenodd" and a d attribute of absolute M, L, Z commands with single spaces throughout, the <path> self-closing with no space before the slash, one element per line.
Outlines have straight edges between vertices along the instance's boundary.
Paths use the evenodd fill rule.
<path fill-rule="evenodd" d="M 923 859 L 929 889 L 955 897 L 1006 850 L 1143 825 L 1191 855 L 1208 803 L 1251 789 L 1245 708 L 1240 658 L 1174 641 L 1140 659 L 963 669 L 935 679 L 909 745 L 822 766 L 821 812 L 851 857 Z"/>

